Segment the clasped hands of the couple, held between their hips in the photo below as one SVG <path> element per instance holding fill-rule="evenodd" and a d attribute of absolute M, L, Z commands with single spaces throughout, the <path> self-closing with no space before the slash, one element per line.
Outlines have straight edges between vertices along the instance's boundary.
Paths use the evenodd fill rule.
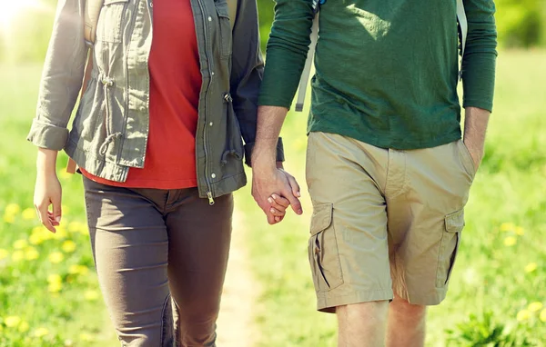
<path fill-rule="evenodd" d="M 295 213 L 303 213 L 298 200 L 301 196 L 298 182 L 281 168 L 254 165 L 252 167 L 252 196 L 266 213 L 269 224 L 282 221 L 284 215 L 279 215 L 275 210 L 279 210 L 279 207 L 287 208 L 287 201 Z"/>

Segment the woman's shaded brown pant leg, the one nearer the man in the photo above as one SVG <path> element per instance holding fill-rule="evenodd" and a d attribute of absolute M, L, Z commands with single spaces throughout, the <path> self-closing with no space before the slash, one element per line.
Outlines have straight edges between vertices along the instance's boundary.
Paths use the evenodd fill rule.
<path fill-rule="evenodd" d="M 215 346 L 216 321 L 231 241 L 233 196 L 209 205 L 197 189 L 179 192 L 168 209 L 168 277 L 180 346 Z M 244 342 L 241 342 L 244 345 Z"/>

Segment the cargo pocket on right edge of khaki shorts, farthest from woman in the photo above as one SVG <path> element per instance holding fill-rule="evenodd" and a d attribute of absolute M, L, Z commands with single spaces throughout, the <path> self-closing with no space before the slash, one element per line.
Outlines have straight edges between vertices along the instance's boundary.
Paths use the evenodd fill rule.
<path fill-rule="evenodd" d="M 464 227 L 464 210 L 445 217 L 445 230 L 441 235 L 436 287 L 444 288 L 450 282 L 451 271 L 459 252 L 460 233 Z"/>

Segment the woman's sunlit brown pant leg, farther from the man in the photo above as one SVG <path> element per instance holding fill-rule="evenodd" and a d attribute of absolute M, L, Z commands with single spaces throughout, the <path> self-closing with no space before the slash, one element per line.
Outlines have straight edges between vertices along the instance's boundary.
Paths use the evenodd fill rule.
<path fill-rule="evenodd" d="M 172 346 L 162 214 L 138 190 L 84 184 L 98 281 L 122 346 Z"/>

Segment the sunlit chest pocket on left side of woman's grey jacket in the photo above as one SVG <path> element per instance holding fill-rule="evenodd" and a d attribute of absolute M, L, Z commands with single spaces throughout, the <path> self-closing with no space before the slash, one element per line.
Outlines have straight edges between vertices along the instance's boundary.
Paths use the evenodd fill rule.
<path fill-rule="evenodd" d="M 129 0 L 105 0 L 96 25 L 96 39 L 121 43 L 122 22 Z"/>

